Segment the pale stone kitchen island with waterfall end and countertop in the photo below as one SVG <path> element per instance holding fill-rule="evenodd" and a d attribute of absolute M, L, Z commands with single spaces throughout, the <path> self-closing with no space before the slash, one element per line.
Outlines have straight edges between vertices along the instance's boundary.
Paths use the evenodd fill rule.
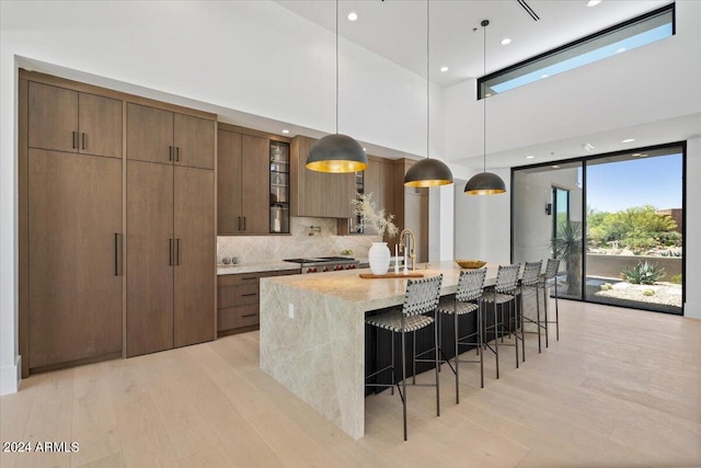
<path fill-rule="evenodd" d="M 487 264 L 485 284 L 497 267 Z M 401 305 L 407 282 L 359 273 L 369 270 L 261 279 L 261 368 L 354 438 L 365 432 L 366 312 Z M 443 273 L 449 295 L 460 267 L 424 263 L 416 273 Z"/>

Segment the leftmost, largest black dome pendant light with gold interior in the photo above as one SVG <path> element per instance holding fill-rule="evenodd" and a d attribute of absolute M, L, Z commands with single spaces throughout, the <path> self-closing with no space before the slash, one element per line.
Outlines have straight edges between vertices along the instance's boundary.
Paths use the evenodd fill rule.
<path fill-rule="evenodd" d="M 307 169 L 319 172 L 357 172 L 368 156 L 355 139 L 338 133 L 338 0 L 336 0 L 336 133 L 317 141 L 307 155 Z"/>

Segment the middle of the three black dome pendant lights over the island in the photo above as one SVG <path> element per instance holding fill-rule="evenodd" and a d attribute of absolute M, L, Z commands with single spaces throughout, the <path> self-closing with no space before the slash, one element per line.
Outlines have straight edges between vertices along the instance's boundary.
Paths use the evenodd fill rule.
<path fill-rule="evenodd" d="M 414 163 L 404 175 L 404 185 L 429 187 L 452 183 L 452 172 L 443 162 L 429 158 L 429 122 L 430 122 L 430 2 L 426 0 L 426 159 Z"/>

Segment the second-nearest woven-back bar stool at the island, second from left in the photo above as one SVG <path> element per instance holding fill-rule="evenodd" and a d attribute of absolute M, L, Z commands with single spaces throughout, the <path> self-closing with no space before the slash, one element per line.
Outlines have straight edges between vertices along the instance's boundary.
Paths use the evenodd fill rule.
<path fill-rule="evenodd" d="M 482 298 L 482 292 L 484 290 L 484 276 L 486 276 L 486 269 L 460 271 L 460 277 L 458 278 L 458 290 L 455 298 L 445 297 L 440 299 L 438 304 L 438 312 L 445 316 L 452 316 L 455 319 L 455 343 L 456 343 L 456 365 L 450 364 L 450 359 L 446 358 L 443 349 L 440 347 L 440 341 L 443 335 L 440 333 L 440 321 L 438 322 L 438 349 L 440 350 L 441 363 L 447 363 L 450 369 L 456 375 L 456 403 L 460 403 L 460 389 L 459 389 L 459 370 L 460 363 L 473 363 L 480 365 L 480 385 L 484 388 L 484 353 L 480 352 L 482 349 L 482 313 L 480 313 L 480 299 Z M 476 301 L 476 303 L 475 303 Z M 472 312 L 476 313 L 476 331 L 460 335 L 460 328 L 458 326 L 458 317 L 467 316 Z M 476 340 L 476 341 L 472 341 Z M 460 346 L 476 346 L 478 359 L 461 359 Z"/>

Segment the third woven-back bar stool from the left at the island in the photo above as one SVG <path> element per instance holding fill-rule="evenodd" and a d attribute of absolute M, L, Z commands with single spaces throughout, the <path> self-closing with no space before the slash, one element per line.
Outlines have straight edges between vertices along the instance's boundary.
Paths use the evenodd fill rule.
<path fill-rule="evenodd" d="M 514 346 L 516 349 L 516 368 L 518 368 L 518 329 L 510 329 L 510 307 L 512 304 L 516 306 L 516 288 L 518 286 L 518 273 L 521 265 L 499 265 L 496 273 L 496 284 L 494 286 L 490 286 L 484 288 L 484 294 L 482 295 L 482 301 L 487 303 L 485 305 L 484 315 L 486 318 L 486 306 L 490 304 L 493 307 L 494 311 L 494 324 L 491 327 L 484 327 L 484 335 L 486 336 L 486 332 L 490 329 L 494 330 L 494 347 L 490 345 L 490 343 L 484 340 L 485 349 L 489 349 L 494 353 L 496 358 L 496 378 L 499 378 L 499 343 L 498 339 L 502 339 L 502 345 Z M 505 306 L 507 305 L 509 308 L 509 334 L 514 332 L 514 343 L 504 343 L 504 311 L 502 310 L 502 320 L 498 320 L 496 313 L 496 306 Z M 486 320 L 485 320 L 486 322 Z M 520 336 L 522 341 L 522 336 Z"/>

